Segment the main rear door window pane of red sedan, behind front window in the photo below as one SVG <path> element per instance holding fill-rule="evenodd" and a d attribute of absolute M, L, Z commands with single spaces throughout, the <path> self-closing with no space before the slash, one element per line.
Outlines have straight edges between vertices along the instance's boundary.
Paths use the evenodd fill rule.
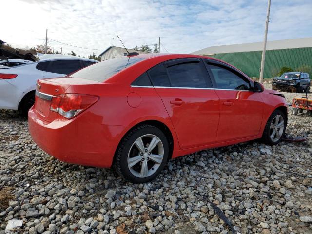
<path fill-rule="evenodd" d="M 172 87 L 207 88 L 207 71 L 200 62 L 182 63 L 167 67 Z"/>

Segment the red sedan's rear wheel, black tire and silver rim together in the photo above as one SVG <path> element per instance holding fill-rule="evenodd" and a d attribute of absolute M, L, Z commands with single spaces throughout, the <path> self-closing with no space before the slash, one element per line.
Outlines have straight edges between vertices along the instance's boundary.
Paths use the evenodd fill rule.
<path fill-rule="evenodd" d="M 146 183 L 159 175 L 168 155 L 165 134 L 155 126 L 144 124 L 132 129 L 121 140 L 113 168 L 132 183 Z"/>

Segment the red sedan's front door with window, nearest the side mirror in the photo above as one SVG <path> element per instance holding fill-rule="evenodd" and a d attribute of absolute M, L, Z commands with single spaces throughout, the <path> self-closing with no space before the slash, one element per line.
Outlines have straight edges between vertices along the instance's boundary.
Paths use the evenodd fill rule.
<path fill-rule="evenodd" d="M 250 91 L 249 79 L 238 70 L 212 59 L 204 61 L 221 104 L 217 142 L 258 135 L 263 115 L 261 94 Z"/>

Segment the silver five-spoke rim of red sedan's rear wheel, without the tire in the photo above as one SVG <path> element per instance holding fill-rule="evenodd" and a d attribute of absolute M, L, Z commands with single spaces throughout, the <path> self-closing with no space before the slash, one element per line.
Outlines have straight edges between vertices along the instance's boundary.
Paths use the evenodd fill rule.
<path fill-rule="evenodd" d="M 138 137 L 128 153 L 128 168 L 132 175 L 139 178 L 152 176 L 162 163 L 164 146 L 153 134 Z"/>

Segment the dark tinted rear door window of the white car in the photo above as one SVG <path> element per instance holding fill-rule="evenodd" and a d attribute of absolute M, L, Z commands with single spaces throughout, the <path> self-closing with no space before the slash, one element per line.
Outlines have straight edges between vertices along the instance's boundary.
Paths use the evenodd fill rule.
<path fill-rule="evenodd" d="M 48 66 L 47 72 L 69 74 L 82 68 L 80 60 L 55 60 Z"/>

